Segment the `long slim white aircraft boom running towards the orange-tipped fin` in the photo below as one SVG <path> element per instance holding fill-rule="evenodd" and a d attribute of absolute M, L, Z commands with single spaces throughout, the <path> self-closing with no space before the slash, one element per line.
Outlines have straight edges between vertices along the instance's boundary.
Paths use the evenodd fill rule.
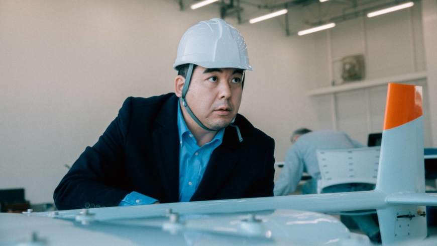
<path fill-rule="evenodd" d="M 250 213 L 272 209 L 293 209 L 313 212 L 338 212 L 387 207 L 386 194 L 380 191 L 329 193 L 318 195 L 299 195 L 263 197 L 232 200 L 215 200 L 183 203 L 164 203 L 142 206 L 92 208 L 96 221 L 155 217 L 173 209 L 179 214 L 189 213 Z M 59 211 L 59 217 L 74 219 L 80 209 Z M 51 212 L 34 213 L 32 216 L 51 216 Z"/>

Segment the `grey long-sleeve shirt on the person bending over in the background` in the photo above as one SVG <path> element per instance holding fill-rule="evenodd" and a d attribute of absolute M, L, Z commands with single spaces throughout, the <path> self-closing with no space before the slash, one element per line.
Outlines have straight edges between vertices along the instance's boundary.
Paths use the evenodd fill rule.
<path fill-rule="evenodd" d="M 320 177 L 316 149 L 354 147 L 364 146 L 341 131 L 321 130 L 301 135 L 285 155 L 285 165 L 275 183 L 274 195 L 285 196 L 294 192 L 303 172 L 315 180 Z"/>

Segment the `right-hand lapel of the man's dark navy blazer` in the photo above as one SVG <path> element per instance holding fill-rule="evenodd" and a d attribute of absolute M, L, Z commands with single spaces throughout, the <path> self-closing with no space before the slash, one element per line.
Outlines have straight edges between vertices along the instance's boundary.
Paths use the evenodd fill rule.
<path fill-rule="evenodd" d="M 202 180 L 190 201 L 211 200 L 238 162 L 238 156 L 232 151 L 238 144 L 237 132 L 233 127 L 227 127 L 222 144 L 212 152 Z"/>

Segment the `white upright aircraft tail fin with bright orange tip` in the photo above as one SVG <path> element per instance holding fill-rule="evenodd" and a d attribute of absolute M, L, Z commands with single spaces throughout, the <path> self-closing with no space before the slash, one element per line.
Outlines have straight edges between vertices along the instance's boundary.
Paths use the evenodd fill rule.
<path fill-rule="evenodd" d="M 421 87 L 389 84 L 377 191 L 399 195 L 425 192 L 421 106 Z M 393 202 L 377 210 L 383 245 L 426 237 L 425 206 L 401 205 L 404 203 Z"/>

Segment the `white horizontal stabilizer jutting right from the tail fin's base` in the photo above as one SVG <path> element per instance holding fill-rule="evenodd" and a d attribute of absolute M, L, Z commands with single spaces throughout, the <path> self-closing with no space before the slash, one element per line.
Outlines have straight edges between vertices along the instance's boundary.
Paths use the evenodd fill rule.
<path fill-rule="evenodd" d="M 388 204 L 437 206 L 437 193 L 394 194 L 387 198 Z"/>

